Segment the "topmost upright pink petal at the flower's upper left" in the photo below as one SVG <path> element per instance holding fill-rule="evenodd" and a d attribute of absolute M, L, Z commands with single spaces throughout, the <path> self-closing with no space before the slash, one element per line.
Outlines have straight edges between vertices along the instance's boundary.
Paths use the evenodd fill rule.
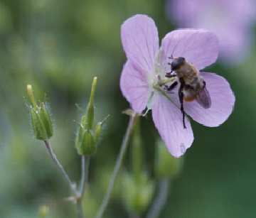
<path fill-rule="evenodd" d="M 127 58 L 140 70 L 151 72 L 159 50 L 159 38 L 154 21 L 146 15 L 136 15 L 122 24 L 121 38 Z"/>

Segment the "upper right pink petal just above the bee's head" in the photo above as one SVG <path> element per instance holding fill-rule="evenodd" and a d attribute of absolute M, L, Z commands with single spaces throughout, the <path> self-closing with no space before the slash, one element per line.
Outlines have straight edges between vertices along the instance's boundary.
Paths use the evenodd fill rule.
<path fill-rule="evenodd" d="M 162 40 L 166 57 L 186 58 L 198 70 L 211 65 L 218 58 L 218 38 L 203 29 L 181 29 L 168 33 Z"/>

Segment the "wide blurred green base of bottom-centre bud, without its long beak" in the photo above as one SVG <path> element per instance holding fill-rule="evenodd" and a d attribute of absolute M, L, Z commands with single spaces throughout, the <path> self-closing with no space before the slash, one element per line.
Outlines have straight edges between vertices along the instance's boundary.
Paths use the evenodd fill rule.
<path fill-rule="evenodd" d="M 138 182 L 132 174 L 124 173 L 122 176 L 124 205 L 129 212 L 138 215 L 145 212 L 154 194 L 154 182 L 146 173 L 142 173 L 141 178 Z"/>

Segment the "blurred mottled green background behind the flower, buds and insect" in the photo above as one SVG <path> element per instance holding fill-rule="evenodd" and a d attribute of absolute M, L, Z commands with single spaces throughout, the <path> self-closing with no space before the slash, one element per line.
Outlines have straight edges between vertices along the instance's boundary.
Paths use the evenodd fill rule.
<path fill-rule="evenodd" d="M 50 207 L 48 217 L 75 217 L 74 206 L 65 200 L 68 185 L 43 143 L 33 137 L 24 97 L 28 83 L 37 97 L 47 94 L 55 124 L 53 148 L 70 177 L 79 180 L 74 140 L 82 111 L 75 104 L 85 108 L 97 76 L 97 119 L 111 117 L 90 166 L 86 207 L 90 217 L 95 214 L 128 121 L 121 113 L 129 105 L 119 90 L 126 60 L 119 31 L 135 13 L 154 18 L 160 38 L 176 28 L 166 18 L 165 1 L 0 1 L 0 217 L 38 217 L 41 205 Z M 161 217 L 256 216 L 255 58 L 253 44 L 239 65 L 218 62 L 208 69 L 228 79 L 235 109 L 218 128 L 193 122 L 195 141 L 184 157 L 181 176 L 171 182 Z M 158 137 L 149 114 L 142 120 L 142 143 L 150 177 Z M 129 165 L 128 152 L 125 168 Z M 128 217 L 119 183 L 105 217 Z"/>

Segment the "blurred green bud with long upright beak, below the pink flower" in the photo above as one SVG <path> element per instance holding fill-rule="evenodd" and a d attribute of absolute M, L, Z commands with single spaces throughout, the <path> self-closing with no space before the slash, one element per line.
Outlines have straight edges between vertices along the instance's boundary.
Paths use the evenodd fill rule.
<path fill-rule="evenodd" d="M 140 217 L 151 202 L 154 193 L 154 181 L 144 170 L 140 117 L 136 117 L 132 133 L 132 172 L 124 170 L 122 174 L 122 198 L 131 217 Z"/>

